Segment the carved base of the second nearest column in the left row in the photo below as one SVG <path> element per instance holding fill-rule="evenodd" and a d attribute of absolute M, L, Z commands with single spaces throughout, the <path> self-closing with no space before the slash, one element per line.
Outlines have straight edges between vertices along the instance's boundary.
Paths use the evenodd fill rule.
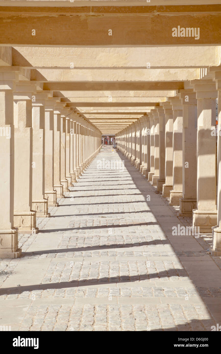
<path fill-rule="evenodd" d="M 14 226 L 22 234 L 37 234 L 36 211 L 14 212 Z"/>

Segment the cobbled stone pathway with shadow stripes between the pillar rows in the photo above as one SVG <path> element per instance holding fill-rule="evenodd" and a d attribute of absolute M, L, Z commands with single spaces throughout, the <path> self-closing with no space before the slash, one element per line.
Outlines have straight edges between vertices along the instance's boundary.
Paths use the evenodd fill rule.
<path fill-rule="evenodd" d="M 193 236 L 172 236 L 181 219 L 122 154 L 103 147 L 70 189 L 51 218 L 38 219 L 39 234 L 20 235 L 22 258 L 1 259 L 0 325 L 210 331 L 221 324 L 220 268 Z"/>

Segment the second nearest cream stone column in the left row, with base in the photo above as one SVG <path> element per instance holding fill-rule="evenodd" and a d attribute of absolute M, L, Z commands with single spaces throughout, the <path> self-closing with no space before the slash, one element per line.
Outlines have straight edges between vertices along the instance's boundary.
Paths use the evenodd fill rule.
<path fill-rule="evenodd" d="M 38 232 L 32 210 L 32 138 L 32 93 L 14 92 L 14 226 L 28 234 Z"/>

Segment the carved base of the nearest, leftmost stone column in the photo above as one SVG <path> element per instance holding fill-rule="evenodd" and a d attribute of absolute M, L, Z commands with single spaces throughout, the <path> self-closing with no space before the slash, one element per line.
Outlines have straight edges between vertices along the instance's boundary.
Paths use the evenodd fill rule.
<path fill-rule="evenodd" d="M 21 253 L 21 248 L 18 248 L 18 231 L 0 230 L 0 258 L 19 258 Z"/>

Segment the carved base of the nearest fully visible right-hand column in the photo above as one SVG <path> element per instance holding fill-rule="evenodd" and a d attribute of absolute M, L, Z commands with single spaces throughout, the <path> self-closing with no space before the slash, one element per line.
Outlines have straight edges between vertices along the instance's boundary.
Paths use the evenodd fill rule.
<path fill-rule="evenodd" d="M 217 224 L 217 210 L 193 210 L 193 227 L 199 227 L 200 233 L 211 233 Z"/>

